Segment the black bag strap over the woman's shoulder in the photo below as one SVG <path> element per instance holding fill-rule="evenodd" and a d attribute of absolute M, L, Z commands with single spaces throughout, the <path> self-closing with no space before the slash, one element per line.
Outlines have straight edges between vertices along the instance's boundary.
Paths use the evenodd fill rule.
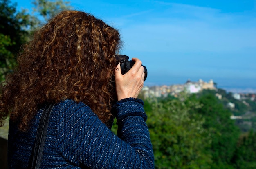
<path fill-rule="evenodd" d="M 53 107 L 54 107 L 53 103 L 47 105 L 43 110 L 42 116 L 40 118 L 37 133 L 36 133 L 36 140 L 34 143 L 34 149 L 32 149 L 32 154 L 31 154 L 32 161 L 30 164 L 32 169 L 40 169 L 46 135 L 47 135 L 47 128 L 48 128 L 50 114 Z"/>

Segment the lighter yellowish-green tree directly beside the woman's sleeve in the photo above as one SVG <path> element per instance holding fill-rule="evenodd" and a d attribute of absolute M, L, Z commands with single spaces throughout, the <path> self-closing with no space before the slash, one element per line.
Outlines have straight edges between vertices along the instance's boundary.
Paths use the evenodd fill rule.
<path fill-rule="evenodd" d="M 211 144 L 210 133 L 202 127 L 201 115 L 189 113 L 200 106 L 197 101 L 190 101 L 185 93 L 177 99 L 149 98 L 144 102 L 155 168 L 209 168 L 211 156 L 204 150 Z"/>

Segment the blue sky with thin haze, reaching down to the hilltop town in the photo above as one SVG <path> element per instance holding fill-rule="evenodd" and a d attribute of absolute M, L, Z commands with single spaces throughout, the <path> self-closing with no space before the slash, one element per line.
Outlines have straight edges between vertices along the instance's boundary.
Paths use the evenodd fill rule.
<path fill-rule="evenodd" d="M 29 0 L 12 0 L 31 9 Z M 148 69 L 146 85 L 209 81 L 256 89 L 256 0 L 72 0 L 119 29 L 122 54 Z"/>

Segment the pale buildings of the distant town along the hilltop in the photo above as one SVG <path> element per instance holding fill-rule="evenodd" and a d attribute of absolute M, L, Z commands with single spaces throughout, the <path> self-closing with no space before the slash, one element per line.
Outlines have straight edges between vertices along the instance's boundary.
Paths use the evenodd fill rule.
<path fill-rule="evenodd" d="M 167 97 L 169 94 L 176 96 L 182 91 L 187 91 L 189 93 L 198 93 L 204 89 L 217 90 L 216 83 L 213 80 L 205 82 L 202 79 L 199 79 L 196 82 L 190 81 L 188 79 L 185 84 L 175 84 L 175 85 L 163 85 L 163 86 L 145 86 L 142 89 L 144 97 Z"/>

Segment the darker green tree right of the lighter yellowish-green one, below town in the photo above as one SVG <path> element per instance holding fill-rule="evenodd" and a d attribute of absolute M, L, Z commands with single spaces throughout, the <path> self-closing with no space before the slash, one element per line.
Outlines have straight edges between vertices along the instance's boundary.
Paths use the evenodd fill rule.
<path fill-rule="evenodd" d="M 206 94 L 199 98 L 203 106 L 196 110 L 205 118 L 204 129 L 211 130 L 211 147 L 208 149 L 212 155 L 211 168 L 233 168 L 231 158 L 236 149 L 240 130 L 230 119 L 231 112 L 213 94 Z"/>

